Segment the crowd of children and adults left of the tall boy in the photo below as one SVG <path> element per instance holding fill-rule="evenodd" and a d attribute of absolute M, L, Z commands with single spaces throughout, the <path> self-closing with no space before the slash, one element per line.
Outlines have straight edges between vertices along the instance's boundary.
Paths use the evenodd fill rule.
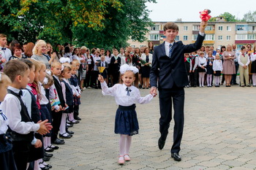
<path fill-rule="evenodd" d="M 152 53 L 152 43 L 120 53 L 44 40 L 7 45 L 0 34 L 0 169 L 51 169 L 46 162 L 56 144 L 71 138 L 69 127 L 81 120 L 81 92 L 101 88 L 99 74 L 112 87 L 125 63 L 140 70 L 135 85 L 149 88 Z"/>

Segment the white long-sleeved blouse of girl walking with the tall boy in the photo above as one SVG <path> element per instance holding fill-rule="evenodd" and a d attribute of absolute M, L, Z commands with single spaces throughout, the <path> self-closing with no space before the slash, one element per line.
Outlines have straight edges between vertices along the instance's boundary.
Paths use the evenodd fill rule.
<path fill-rule="evenodd" d="M 153 95 L 148 94 L 145 97 L 140 96 L 140 90 L 135 88 L 135 86 L 129 87 L 129 96 L 127 96 L 127 86 L 124 84 L 116 84 L 112 88 L 108 88 L 106 82 L 101 82 L 102 87 L 102 94 L 114 96 L 116 100 L 116 104 L 129 107 L 132 104 L 139 103 L 139 104 L 148 104 L 149 101 L 152 100 Z"/>

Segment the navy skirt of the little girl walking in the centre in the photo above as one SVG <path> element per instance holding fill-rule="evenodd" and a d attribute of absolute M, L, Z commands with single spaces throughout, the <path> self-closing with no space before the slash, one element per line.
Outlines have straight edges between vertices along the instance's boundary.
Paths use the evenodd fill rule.
<path fill-rule="evenodd" d="M 116 110 L 115 134 L 127 134 L 129 136 L 138 134 L 139 123 L 135 107 L 135 104 L 129 107 L 118 107 Z"/>

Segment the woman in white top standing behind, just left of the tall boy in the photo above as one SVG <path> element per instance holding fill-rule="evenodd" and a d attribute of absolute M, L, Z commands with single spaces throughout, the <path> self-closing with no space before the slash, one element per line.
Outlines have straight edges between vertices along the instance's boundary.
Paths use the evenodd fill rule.
<path fill-rule="evenodd" d="M 144 49 L 144 53 L 141 54 L 141 72 L 142 72 L 142 79 L 143 79 L 143 89 L 148 89 L 149 86 L 149 73 L 151 69 L 153 55 L 149 53 L 149 48 L 146 47 Z"/>

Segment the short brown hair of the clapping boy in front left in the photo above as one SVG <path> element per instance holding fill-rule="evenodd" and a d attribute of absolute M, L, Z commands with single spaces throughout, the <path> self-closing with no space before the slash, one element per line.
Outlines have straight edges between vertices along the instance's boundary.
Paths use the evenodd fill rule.
<path fill-rule="evenodd" d="M 12 82 L 18 75 L 24 76 L 24 73 L 29 69 L 29 66 L 20 60 L 8 61 L 4 66 L 4 74 L 10 77 Z"/>

